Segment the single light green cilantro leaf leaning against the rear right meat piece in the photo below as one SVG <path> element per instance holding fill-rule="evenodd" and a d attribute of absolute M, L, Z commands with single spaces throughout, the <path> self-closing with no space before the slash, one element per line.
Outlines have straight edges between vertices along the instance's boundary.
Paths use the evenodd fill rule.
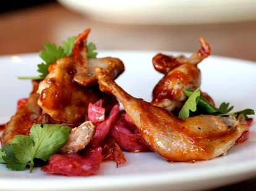
<path fill-rule="evenodd" d="M 179 118 L 186 119 L 189 117 L 189 111 L 195 112 L 197 110 L 197 103 L 200 97 L 200 89 L 197 88 L 187 99 L 181 111 L 179 112 Z"/>

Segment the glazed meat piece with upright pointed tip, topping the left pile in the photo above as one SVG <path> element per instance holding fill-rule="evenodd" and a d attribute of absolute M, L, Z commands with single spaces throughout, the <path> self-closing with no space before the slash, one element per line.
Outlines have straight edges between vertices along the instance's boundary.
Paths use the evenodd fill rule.
<path fill-rule="evenodd" d="M 96 81 L 95 67 L 103 67 L 116 78 L 124 71 L 119 59 L 88 59 L 85 46 L 90 30 L 85 30 L 75 40 L 73 54 L 63 57 L 49 67 L 49 74 L 38 87 L 38 105 L 54 120 L 79 124 L 87 114 L 88 104 L 105 99 L 111 105 L 114 97 L 104 94 L 93 86 Z M 113 106 L 113 105 L 112 105 Z"/>

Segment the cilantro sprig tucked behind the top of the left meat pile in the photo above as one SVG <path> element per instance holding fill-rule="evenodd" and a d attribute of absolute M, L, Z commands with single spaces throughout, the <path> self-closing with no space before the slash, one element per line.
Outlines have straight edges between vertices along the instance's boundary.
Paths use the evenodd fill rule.
<path fill-rule="evenodd" d="M 51 63 L 56 62 L 56 60 L 62 57 L 68 57 L 72 54 L 74 48 L 75 36 L 67 38 L 67 41 L 63 41 L 61 46 L 57 47 L 56 44 L 46 42 L 44 44 L 45 49 L 40 51 L 40 58 L 43 62 L 37 65 L 38 76 L 21 76 L 19 79 L 44 79 L 48 75 L 48 67 Z M 95 52 L 96 46 L 93 43 L 87 44 L 87 57 L 88 59 L 96 59 Z"/>

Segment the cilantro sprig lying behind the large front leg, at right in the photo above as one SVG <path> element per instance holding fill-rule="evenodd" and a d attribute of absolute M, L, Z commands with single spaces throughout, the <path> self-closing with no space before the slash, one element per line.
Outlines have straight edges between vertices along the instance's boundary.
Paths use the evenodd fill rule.
<path fill-rule="evenodd" d="M 216 108 L 200 95 L 200 89 L 196 89 L 194 92 L 186 90 L 185 94 L 189 98 L 179 112 L 179 118 L 182 119 L 189 118 L 189 116 L 193 115 L 195 112 L 200 114 L 223 116 L 243 114 L 245 118 L 249 118 L 248 115 L 255 114 L 254 110 L 249 108 L 238 112 L 231 112 L 234 106 L 229 107 L 229 103 L 226 102 L 223 102 L 219 108 Z"/>

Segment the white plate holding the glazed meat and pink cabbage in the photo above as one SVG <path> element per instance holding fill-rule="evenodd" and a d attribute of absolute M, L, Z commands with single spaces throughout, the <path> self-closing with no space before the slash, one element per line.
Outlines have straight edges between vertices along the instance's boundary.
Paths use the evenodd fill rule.
<path fill-rule="evenodd" d="M 117 79 L 136 97 L 151 99 L 153 86 L 161 75 L 153 70 L 151 58 L 156 52 L 101 51 L 100 57 L 119 57 L 126 64 L 125 73 Z M 37 54 L 0 57 L 0 123 L 15 112 L 20 97 L 31 90 L 29 81 L 17 76 L 36 74 Z M 210 56 L 200 63 L 202 89 L 220 104 L 228 101 L 235 109 L 256 109 L 256 63 Z M 210 189 L 256 176 L 255 124 L 249 140 L 232 148 L 228 155 L 197 163 L 168 163 L 155 153 L 125 153 L 127 163 L 119 168 L 103 163 L 100 173 L 90 177 L 49 176 L 36 169 L 9 171 L 0 166 L 1 190 L 199 190 Z"/>

